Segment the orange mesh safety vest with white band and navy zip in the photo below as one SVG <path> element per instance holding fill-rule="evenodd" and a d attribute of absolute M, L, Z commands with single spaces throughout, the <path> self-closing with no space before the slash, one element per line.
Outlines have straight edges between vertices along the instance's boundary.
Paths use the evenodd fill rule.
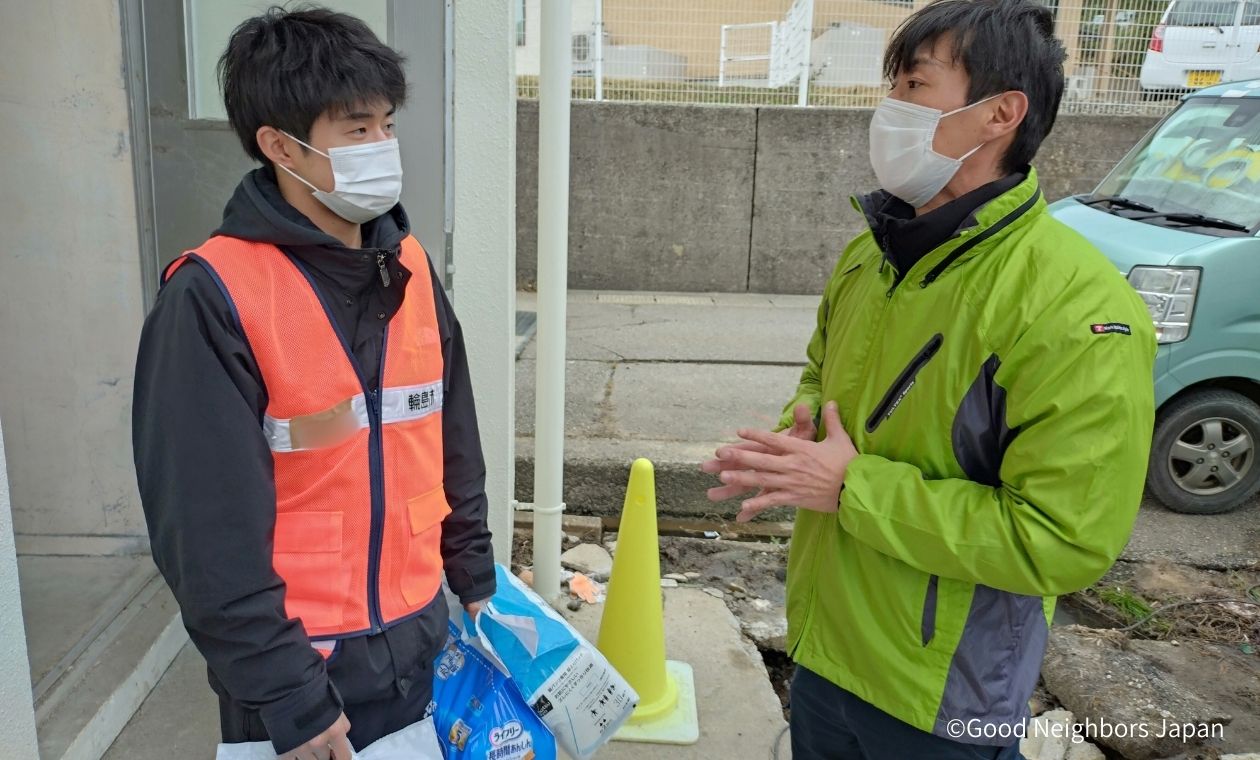
<path fill-rule="evenodd" d="M 213 237 L 202 263 L 237 314 L 267 388 L 262 429 L 276 480 L 272 563 L 285 611 L 325 642 L 378 633 L 441 587 L 442 342 L 426 253 L 386 329 L 381 388 L 365 387 L 310 273 L 276 246 Z M 165 279 L 164 277 L 164 279 Z M 213 413 L 213 412 L 212 412 Z"/>

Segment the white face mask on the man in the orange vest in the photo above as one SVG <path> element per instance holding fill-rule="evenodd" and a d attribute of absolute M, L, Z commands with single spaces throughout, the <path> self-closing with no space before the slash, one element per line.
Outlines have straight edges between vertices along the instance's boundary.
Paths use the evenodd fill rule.
<path fill-rule="evenodd" d="M 297 140 L 289 132 L 285 135 Z M 297 140 L 306 145 L 301 140 Z M 333 163 L 333 190 L 325 193 L 287 166 L 280 166 L 311 189 L 316 200 L 346 222 L 363 224 L 386 213 L 398 203 L 402 194 L 402 158 L 398 140 L 391 137 L 367 145 L 330 147 L 328 153 L 306 145 Z M 277 164 L 278 165 L 278 164 Z"/>

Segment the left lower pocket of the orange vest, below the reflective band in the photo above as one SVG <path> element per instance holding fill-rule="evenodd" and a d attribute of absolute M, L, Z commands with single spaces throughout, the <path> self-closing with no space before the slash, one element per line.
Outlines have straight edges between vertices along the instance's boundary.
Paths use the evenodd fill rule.
<path fill-rule="evenodd" d="M 307 630 L 338 626 L 345 620 L 340 512 L 276 514 L 272 566 L 285 581 L 285 614 Z"/>

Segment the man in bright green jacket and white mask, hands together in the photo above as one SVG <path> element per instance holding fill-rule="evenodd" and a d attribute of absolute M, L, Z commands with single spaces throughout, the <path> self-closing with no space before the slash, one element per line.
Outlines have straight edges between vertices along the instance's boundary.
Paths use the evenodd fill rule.
<path fill-rule="evenodd" d="M 703 465 L 741 519 L 798 508 L 796 760 L 1018 757 L 1055 597 L 1096 581 L 1142 498 L 1154 329 L 1046 213 L 1029 166 L 1063 91 L 1034 0 L 942 0 L 890 43 L 883 190 L 818 309 L 775 432 Z M 818 430 L 818 429 L 822 430 Z"/>

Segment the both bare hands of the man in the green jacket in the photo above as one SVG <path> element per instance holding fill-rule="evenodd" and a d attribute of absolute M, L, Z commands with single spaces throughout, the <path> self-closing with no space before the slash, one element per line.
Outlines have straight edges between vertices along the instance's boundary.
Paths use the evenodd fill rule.
<path fill-rule="evenodd" d="M 704 463 L 704 471 L 716 473 L 723 484 L 764 493 L 743 502 L 738 522 L 748 522 L 766 509 L 799 507 L 814 512 L 839 509 L 840 487 L 849 463 L 858 451 L 840 423 L 835 402 L 823 408 L 827 439 L 819 442 L 762 430 L 740 430 L 745 441 L 759 444 L 761 451 L 740 445 L 717 450 L 717 459 Z M 728 498 L 730 489 L 709 489 L 709 498 Z"/>

